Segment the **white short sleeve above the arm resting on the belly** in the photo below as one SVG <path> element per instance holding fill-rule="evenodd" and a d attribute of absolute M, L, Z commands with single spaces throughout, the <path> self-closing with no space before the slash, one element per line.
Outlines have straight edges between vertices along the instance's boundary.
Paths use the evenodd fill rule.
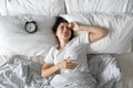
<path fill-rule="evenodd" d="M 47 54 L 47 56 L 45 56 L 45 58 L 44 58 L 44 62 L 45 62 L 45 63 L 54 64 L 53 53 L 54 53 L 54 48 L 51 47 L 50 51 L 49 51 L 49 53 Z"/>

